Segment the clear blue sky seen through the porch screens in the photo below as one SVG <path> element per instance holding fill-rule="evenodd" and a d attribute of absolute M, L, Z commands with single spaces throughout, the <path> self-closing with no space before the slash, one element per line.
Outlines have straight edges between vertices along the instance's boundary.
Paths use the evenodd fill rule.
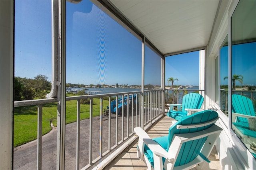
<path fill-rule="evenodd" d="M 15 76 L 52 77 L 51 1 L 17 0 L 15 8 Z M 141 84 L 141 40 L 90 1 L 67 2 L 66 82 Z M 145 51 L 145 84 L 161 83 L 160 57 Z M 166 57 L 167 78 L 176 85 L 198 85 L 199 52 Z"/>

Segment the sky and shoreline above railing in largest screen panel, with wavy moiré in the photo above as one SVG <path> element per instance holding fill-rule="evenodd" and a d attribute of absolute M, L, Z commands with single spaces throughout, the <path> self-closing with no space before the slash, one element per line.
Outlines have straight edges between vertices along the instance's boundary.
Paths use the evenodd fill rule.
<path fill-rule="evenodd" d="M 141 40 L 92 2 L 66 3 L 66 39 L 70 88 L 113 93 L 141 86 Z"/>

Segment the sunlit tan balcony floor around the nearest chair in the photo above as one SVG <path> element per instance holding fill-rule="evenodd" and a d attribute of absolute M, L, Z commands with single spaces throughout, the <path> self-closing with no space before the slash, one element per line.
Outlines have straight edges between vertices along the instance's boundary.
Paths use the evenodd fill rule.
<path fill-rule="evenodd" d="M 149 131 L 150 137 L 160 137 L 168 135 L 168 130 L 170 125 L 172 125 L 172 118 L 164 116 L 162 117 Z M 124 151 L 120 156 L 118 156 L 112 163 L 110 163 L 105 169 L 107 170 L 146 170 L 147 166 L 143 161 L 137 158 L 137 143 L 132 145 L 129 149 Z M 210 170 L 221 170 L 220 162 L 216 149 L 212 150 L 209 156 Z M 192 170 L 197 170 L 199 168 L 194 167 Z"/>

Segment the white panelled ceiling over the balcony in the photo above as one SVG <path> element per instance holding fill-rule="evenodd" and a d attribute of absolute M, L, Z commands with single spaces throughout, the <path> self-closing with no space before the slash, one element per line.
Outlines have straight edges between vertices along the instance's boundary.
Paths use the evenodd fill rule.
<path fill-rule="evenodd" d="M 219 0 L 110 0 L 163 54 L 208 44 Z"/>

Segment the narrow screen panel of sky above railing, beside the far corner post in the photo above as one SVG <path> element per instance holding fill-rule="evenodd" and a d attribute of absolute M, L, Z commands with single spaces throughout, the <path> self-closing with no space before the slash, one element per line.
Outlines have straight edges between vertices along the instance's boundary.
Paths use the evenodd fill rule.
<path fill-rule="evenodd" d="M 161 87 L 161 57 L 145 46 L 144 88 L 147 90 Z"/>

